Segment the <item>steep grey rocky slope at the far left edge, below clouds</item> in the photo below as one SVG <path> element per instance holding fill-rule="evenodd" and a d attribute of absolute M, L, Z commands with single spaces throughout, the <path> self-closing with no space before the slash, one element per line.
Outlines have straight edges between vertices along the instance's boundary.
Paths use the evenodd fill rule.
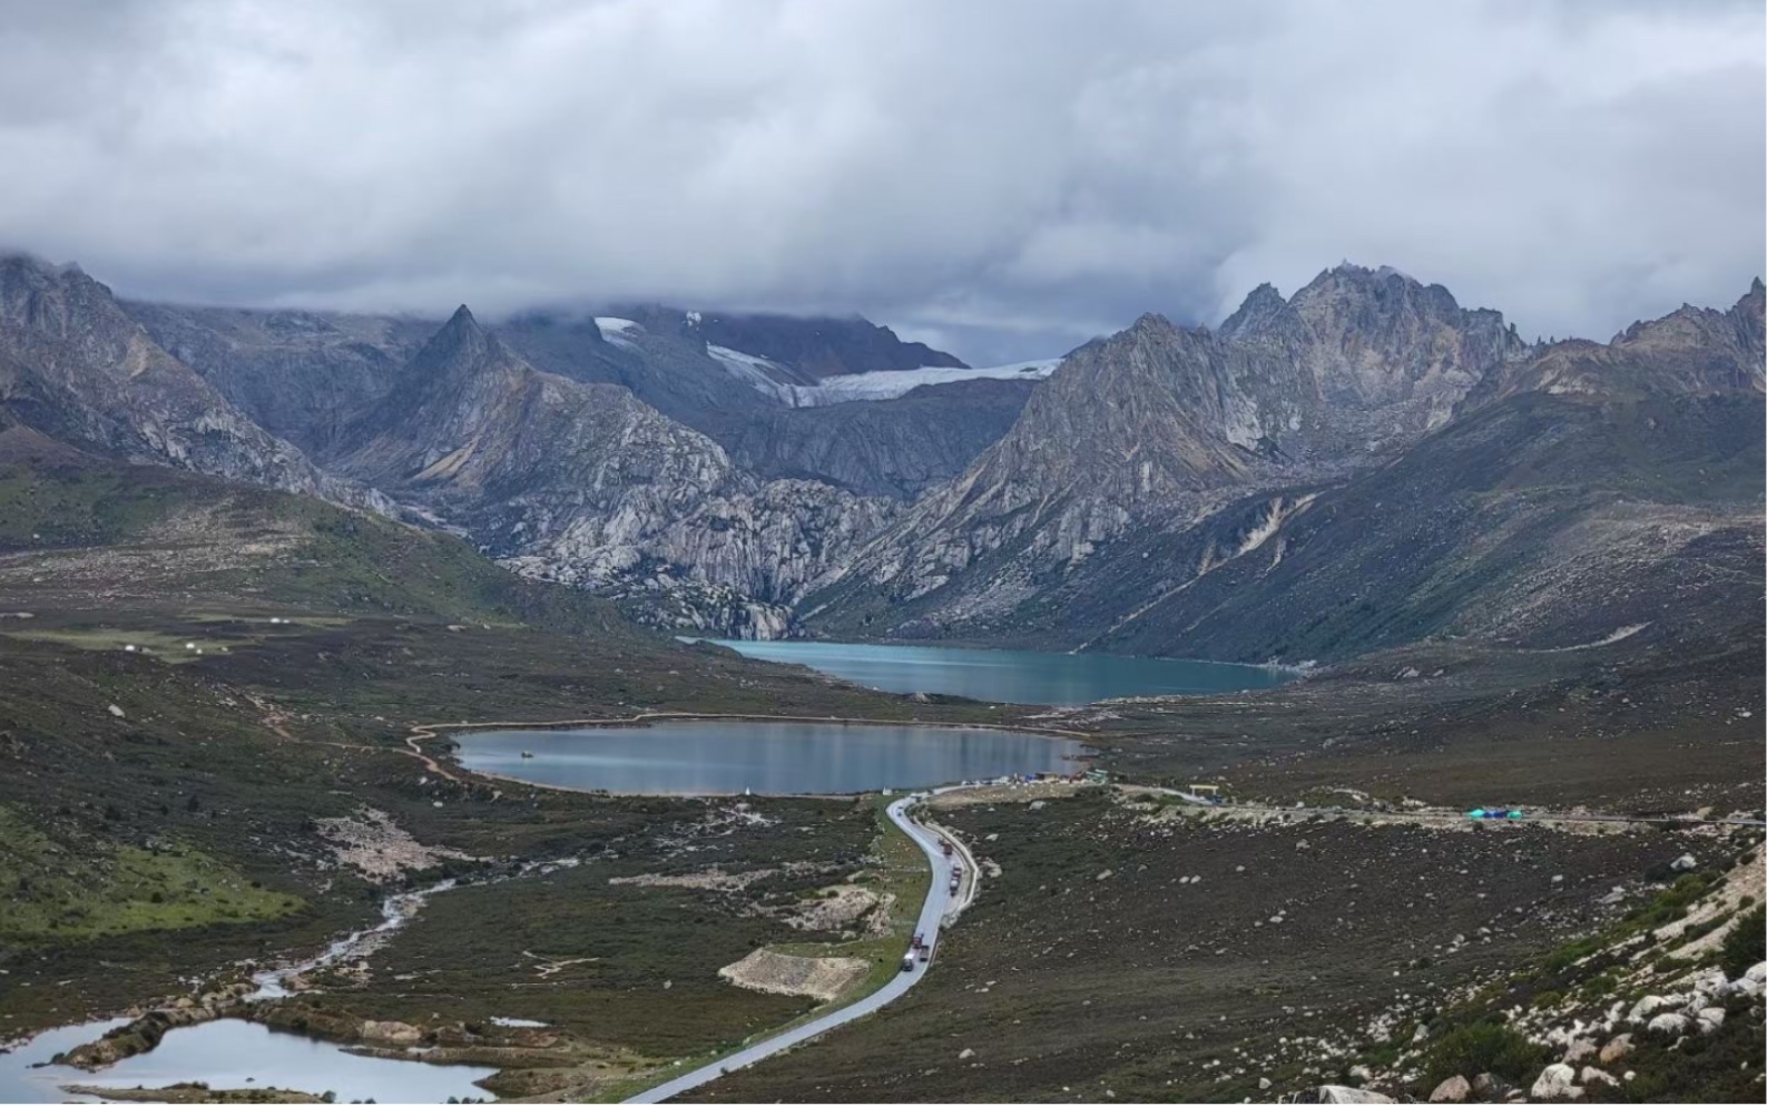
<path fill-rule="evenodd" d="M 373 502 L 265 433 L 78 267 L 0 256 L 0 405 L 37 433 L 102 456 Z"/>

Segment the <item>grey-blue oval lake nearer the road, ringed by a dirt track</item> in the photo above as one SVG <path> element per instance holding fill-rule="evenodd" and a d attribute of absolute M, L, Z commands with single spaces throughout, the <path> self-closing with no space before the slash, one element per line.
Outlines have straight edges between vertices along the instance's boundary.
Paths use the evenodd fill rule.
<path fill-rule="evenodd" d="M 1083 767 L 1078 742 L 954 726 L 682 719 L 458 740 L 474 772 L 626 795 L 850 795 Z"/>

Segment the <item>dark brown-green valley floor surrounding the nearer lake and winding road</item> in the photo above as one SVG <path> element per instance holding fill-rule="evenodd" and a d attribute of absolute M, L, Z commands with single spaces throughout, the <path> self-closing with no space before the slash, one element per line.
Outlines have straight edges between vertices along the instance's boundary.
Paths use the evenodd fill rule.
<path fill-rule="evenodd" d="M 115 481 L 147 488 L 106 498 Z M 203 502 L 154 472 L 0 493 L 14 496 L 0 523 L 4 1039 L 194 1000 L 369 924 L 389 894 L 458 878 L 366 958 L 315 973 L 316 991 L 249 1014 L 482 1062 L 505 1097 L 617 1099 L 818 1005 L 719 975 L 755 949 L 857 961 L 864 988 L 912 936 L 903 905 L 926 869 L 875 802 L 477 779 L 444 742 L 406 742 L 422 723 L 993 723 L 1085 733 L 1120 781 L 1216 781 L 1278 804 L 1762 804 L 1758 636 L 1550 655 L 1431 645 L 1200 700 L 928 701 L 633 631 L 429 535 L 320 507 L 265 516 L 249 500 L 269 493 Z M 16 509 L 30 502 L 35 516 Z M 942 811 L 988 875 L 926 984 L 696 1094 L 1240 1099 L 1348 1078 L 1392 1060 L 1368 1032 L 1382 1018 L 1445 1025 L 1433 1012 L 1468 988 L 1650 908 L 1679 855 L 1721 873 L 1758 837 L 1240 820 L 1136 795 Z M 1748 1004 L 1726 1025 L 1760 1039 Z M 150 1046 L 148 1030 L 113 1044 Z M 1728 1057 L 1726 1041 L 1709 1051 Z M 1652 1087 L 1732 1094 L 1709 1076 Z"/>

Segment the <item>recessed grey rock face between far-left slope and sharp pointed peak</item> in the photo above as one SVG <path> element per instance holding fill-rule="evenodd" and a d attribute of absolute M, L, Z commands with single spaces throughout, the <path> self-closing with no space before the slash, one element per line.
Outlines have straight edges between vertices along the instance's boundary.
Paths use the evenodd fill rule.
<path fill-rule="evenodd" d="M 433 320 L 127 302 L 166 352 L 304 451 L 323 451 L 392 385 Z"/>

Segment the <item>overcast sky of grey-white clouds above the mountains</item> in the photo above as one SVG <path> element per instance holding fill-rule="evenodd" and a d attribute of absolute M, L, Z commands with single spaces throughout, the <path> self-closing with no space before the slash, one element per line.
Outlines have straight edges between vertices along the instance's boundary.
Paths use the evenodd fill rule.
<path fill-rule="evenodd" d="M 1762 4 L 7 0 L 0 244 L 120 293 L 861 311 L 972 362 L 1341 260 L 1606 339 L 1762 270 Z"/>

